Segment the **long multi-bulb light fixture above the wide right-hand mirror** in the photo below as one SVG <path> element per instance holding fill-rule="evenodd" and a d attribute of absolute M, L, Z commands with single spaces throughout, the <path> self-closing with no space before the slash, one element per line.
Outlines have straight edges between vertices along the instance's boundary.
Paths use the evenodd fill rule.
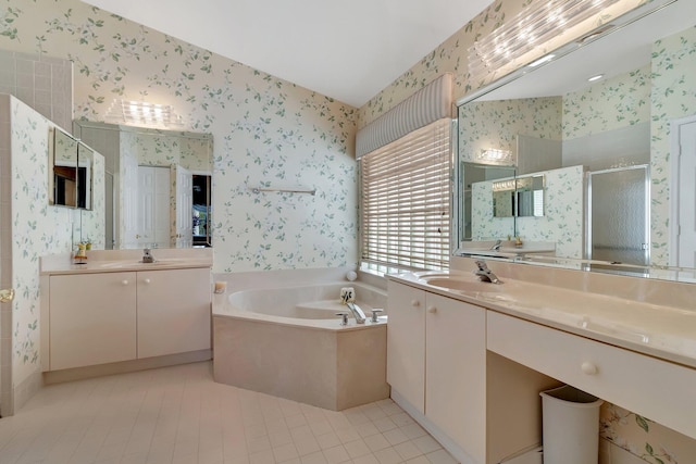
<path fill-rule="evenodd" d="M 583 22 L 601 13 L 618 1 L 547 0 L 532 2 L 511 21 L 506 22 L 469 47 L 470 78 L 484 80 L 489 76 L 505 75 L 520 65 L 524 65 L 525 62 L 533 61 L 530 66 L 538 66 L 551 60 L 554 57 L 546 54 L 548 51 L 573 40 L 573 38 L 564 36 L 567 33 L 582 34 L 573 28 L 581 26 Z M 544 61 L 534 61 L 539 54 L 545 54 L 542 58 Z"/>

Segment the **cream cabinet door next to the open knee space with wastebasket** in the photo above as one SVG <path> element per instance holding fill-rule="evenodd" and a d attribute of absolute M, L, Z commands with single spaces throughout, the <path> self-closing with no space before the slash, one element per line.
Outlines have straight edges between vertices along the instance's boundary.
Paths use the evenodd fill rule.
<path fill-rule="evenodd" d="M 427 293 L 425 301 L 425 416 L 473 462 L 484 463 L 485 310 L 433 293 Z"/>

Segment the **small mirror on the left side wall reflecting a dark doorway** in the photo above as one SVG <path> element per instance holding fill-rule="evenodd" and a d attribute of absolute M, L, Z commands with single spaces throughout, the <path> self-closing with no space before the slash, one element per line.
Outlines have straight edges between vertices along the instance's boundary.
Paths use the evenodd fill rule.
<path fill-rule="evenodd" d="M 49 204 L 91 210 L 94 151 L 58 127 L 49 140 Z"/>

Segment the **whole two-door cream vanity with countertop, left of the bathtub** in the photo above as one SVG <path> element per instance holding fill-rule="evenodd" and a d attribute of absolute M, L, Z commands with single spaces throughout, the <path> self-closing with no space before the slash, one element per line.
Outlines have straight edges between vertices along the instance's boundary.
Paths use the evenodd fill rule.
<path fill-rule="evenodd" d="M 211 359 L 210 258 L 142 263 L 134 252 L 42 263 L 47 381 Z"/>

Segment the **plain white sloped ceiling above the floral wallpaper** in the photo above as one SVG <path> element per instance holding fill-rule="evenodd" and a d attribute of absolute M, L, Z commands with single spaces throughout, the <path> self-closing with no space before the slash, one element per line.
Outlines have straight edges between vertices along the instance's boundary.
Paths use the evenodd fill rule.
<path fill-rule="evenodd" d="M 362 106 L 490 0 L 83 0 Z"/>

